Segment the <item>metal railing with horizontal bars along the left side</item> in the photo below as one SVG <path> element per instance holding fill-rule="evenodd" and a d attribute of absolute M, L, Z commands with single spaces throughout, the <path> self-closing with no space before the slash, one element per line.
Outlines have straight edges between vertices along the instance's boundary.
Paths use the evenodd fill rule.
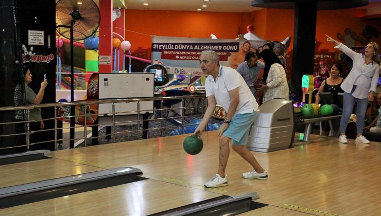
<path fill-rule="evenodd" d="M 165 102 L 166 101 L 169 101 L 169 100 L 177 100 L 178 103 L 177 104 L 180 104 L 179 107 L 174 107 L 174 106 L 166 106 L 165 105 Z M 143 101 L 153 101 L 153 102 L 160 102 L 160 107 L 156 106 L 156 107 L 153 107 L 153 109 L 149 109 L 149 110 L 141 110 L 141 107 L 140 107 L 140 104 L 141 102 Z M 120 111 L 120 112 L 115 112 L 115 104 L 118 104 L 118 103 L 131 103 L 131 102 L 136 102 L 136 110 L 129 110 L 129 111 Z M 186 104 L 187 103 L 187 104 Z M 58 145 L 61 145 L 61 143 L 63 141 L 70 141 L 70 140 L 81 140 L 81 138 L 73 138 L 73 139 L 63 139 L 63 137 L 59 137 L 59 132 L 61 132 L 61 136 L 62 136 L 62 130 L 65 130 L 65 129 L 78 129 L 78 128 L 83 128 L 83 133 L 84 133 L 84 136 L 83 136 L 83 142 L 84 142 L 84 146 L 88 146 L 88 130 L 87 128 L 88 127 L 96 127 L 96 130 L 98 130 L 99 128 L 102 128 L 102 127 L 111 127 L 112 129 L 112 132 L 111 133 L 107 133 L 106 135 L 99 135 L 99 136 L 91 136 L 91 139 L 94 140 L 94 138 L 101 138 L 101 137 L 105 137 L 105 136 L 111 136 L 112 137 L 112 142 L 115 142 L 115 135 L 117 134 L 120 134 L 120 133 L 132 133 L 132 132 L 137 132 L 137 139 L 141 139 L 142 137 L 140 136 L 140 133 L 142 132 L 148 132 L 148 131 L 152 131 L 152 130 L 160 130 L 160 134 L 161 136 L 164 136 L 165 133 L 164 131 L 167 129 L 171 129 L 171 128 L 178 128 L 178 127 L 181 127 L 182 128 L 182 133 L 184 133 L 184 128 L 187 127 L 187 125 L 189 125 L 189 123 L 187 123 L 185 121 L 185 118 L 188 117 L 188 116 L 192 116 L 192 117 L 199 117 L 199 118 L 202 118 L 202 116 L 204 115 L 204 112 L 206 110 L 206 100 L 205 100 L 205 95 L 190 95 L 190 96 L 176 96 L 176 97 L 150 97 L 150 98 L 134 98 L 134 99 L 113 99 L 113 100 L 84 100 L 84 101 L 75 101 L 75 102 L 63 102 L 63 103 L 44 103 L 44 104 L 35 104 L 35 105 L 29 105 L 29 106 L 17 106 L 17 107 L 14 107 L 14 106 L 7 106 L 7 107 L 0 107 L 0 112 L 9 112 L 9 111 L 13 111 L 12 113 L 15 113 L 16 110 L 31 110 L 31 109 L 35 109 L 37 107 L 53 107 L 54 109 L 54 117 L 53 118 L 45 118 L 45 119 L 42 119 L 43 121 L 47 121 L 47 120 L 54 120 L 54 128 L 50 128 L 50 129 L 42 129 L 42 130 L 39 130 L 39 132 L 48 132 L 48 131 L 53 131 L 54 133 L 54 140 L 45 140 L 45 141 L 40 141 L 40 142 L 34 142 L 34 143 L 29 143 L 29 135 L 33 134 L 34 131 L 29 131 L 28 130 L 28 127 L 26 127 L 25 129 L 25 133 L 10 133 L 10 134 L 0 134 L 0 138 L 4 138 L 4 137 L 10 137 L 10 136 L 20 136 L 20 135 L 25 135 L 26 136 L 26 144 L 25 145 L 20 145 L 20 146 L 10 146 L 10 147 L 4 147 L 2 145 L 0 145 L 0 150 L 2 149 L 9 149 L 9 148 L 17 148 L 17 147 L 24 147 L 24 146 L 27 146 L 28 149 L 30 146 L 33 146 L 33 145 L 36 145 L 36 144 L 39 144 L 39 143 L 46 143 L 46 142 L 53 142 L 55 143 L 55 150 L 57 150 L 58 148 Z M 112 104 L 112 112 L 111 113 L 97 113 L 97 114 L 90 114 L 88 112 L 84 112 L 83 115 L 75 115 L 75 116 L 65 116 L 65 118 L 70 118 L 71 120 L 74 119 L 73 117 L 83 117 L 85 120 L 84 120 L 84 125 L 79 125 L 79 124 L 76 124 L 74 127 L 60 127 L 60 120 L 58 120 L 58 118 L 62 118 L 60 116 L 57 115 L 57 109 L 59 109 L 59 107 L 75 107 L 75 105 L 84 105 L 86 107 L 86 105 L 90 105 L 90 104 Z M 190 105 L 190 106 L 189 106 Z M 177 113 L 176 111 L 181 111 L 179 113 Z M 173 115 L 169 116 L 169 113 L 171 113 Z M 27 112 L 29 113 L 29 112 Z M 132 114 L 132 113 L 137 113 L 137 114 Z M 150 113 L 151 115 L 151 118 L 141 118 L 142 115 L 144 114 L 148 114 Z M 164 114 L 165 113 L 165 114 Z M 94 116 L 94 115 L 97 115 L 98 117 L 98 121 L 95 122 L 95 124 L 92 124 L 92 125 L 87 125 L 87 122 L 86 122 L 86 118 L 90 117 L 90 116 Z M 99 123 L 99 119 L 100 118 L 103 118 L 103 117 L 112 117 L 112 122 L 111 122 L 111 125 L 110 124 L 103 124 L 103 123 Z M 117 121 L 116 120 L 116 116 L 121 116 L 122 117 L 122 120 L 120 120 L 120 118 L 118 118 L 119 120 Z M 136 120 L 125 120 L 123 119 L 124 116 L 135 116 L 137 117 Z M 153 118 L 152 118 L 153 117 Z M 179 125 L 175 125 L 175 126 L 165 126 L 164 122 L 165 121 L 168 121 L 168 120 L 177 120 L 177 119 L 180 119 L 180 120 L 177 120 L 178 122 L 181 122 L 181 126 Z M 154 128 L 145 128 L 145 127 L 141 127 L 141 123 L 146 123 L 149 121 L 159 121 L 160 122 L 160 127 L 154 127 Z M 35 122 L 35 121 L 31 121 L 31 120 L 26 120 L 26 121 L 9 121 L 9 122 L 0 122 L 0 127 L 7 127 L 8 125 L 15 125 L 15 124 L 30 124 L 31 122 Z M 115 127 L 117 125 L 127 125 L 127 124 L 137 124 L 137 130 L 131 130 L 131 131 L 123 131 L 123 132 L 116 132 L 115 130 Z M 207 130 L 207 127 L 206 127 L 206 130 Z M 148 138 L 147 136 L 144 137 L 144 138 Z M 95 143 L 95 145 L 97 145 L 97 143 Z"/>

